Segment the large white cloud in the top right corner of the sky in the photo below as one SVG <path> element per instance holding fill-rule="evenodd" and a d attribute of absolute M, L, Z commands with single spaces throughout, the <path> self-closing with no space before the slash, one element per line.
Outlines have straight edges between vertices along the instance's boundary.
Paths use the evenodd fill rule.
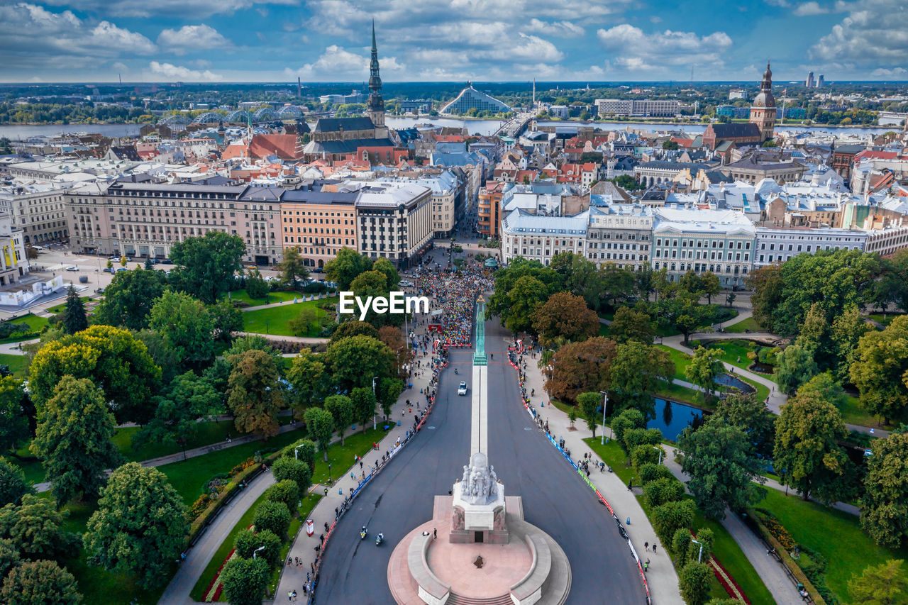
<path fill-rule="evenodd" d="M 903 0 L 837 3 L 840 9 L 848 15 L 811 47 L 812 58 L 881 68 L 905 64 L 908 10 Z"/>

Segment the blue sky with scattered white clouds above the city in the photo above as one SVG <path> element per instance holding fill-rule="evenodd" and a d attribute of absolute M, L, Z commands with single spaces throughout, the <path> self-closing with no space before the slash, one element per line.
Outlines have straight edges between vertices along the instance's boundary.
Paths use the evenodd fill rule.
<path fill-rule="evenodd" d="M 905 0 L 0 0 L 0 82 L 908 80 Z"/>

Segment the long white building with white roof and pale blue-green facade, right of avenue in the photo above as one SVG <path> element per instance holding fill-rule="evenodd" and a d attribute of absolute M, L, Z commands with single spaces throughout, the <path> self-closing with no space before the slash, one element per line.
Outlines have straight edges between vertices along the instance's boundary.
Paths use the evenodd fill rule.
<path fill-rule="evenodd" d="M 756 229 L 744 213 L 695 207 L 654 208 L 653 268 L 676 282 L 688 271 L 716 273 L 725 288 L 744 284 L 754 266 Z"/>

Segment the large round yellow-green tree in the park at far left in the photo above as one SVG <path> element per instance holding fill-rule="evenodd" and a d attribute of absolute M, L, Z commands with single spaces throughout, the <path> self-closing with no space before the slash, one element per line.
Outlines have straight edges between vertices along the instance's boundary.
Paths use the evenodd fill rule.
<path fill-rule="evenodd" d="M 97 384 L 117 422 L 142 424 L 153 416 L 152 392 L 161 368 L 143 342 L 125 330 L 93 325 L 44 344 L 32 361 L 28 383 L 39 415 L 66 374 Z"/>

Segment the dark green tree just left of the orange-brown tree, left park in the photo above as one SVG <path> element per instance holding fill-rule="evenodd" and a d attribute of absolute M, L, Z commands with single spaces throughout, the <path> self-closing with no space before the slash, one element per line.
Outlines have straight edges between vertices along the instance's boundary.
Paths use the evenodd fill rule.
<path fill-rule="evenodd" d="M 222 412 L 221 394 L 211 382 L 192 371 L 173 379 L 167 397 L 158 397 L 154 418 L 133 437 L 133 448 L 145 443 L 173 443 L 183 447 L 192 441 L 200 429 L 200 418 L 212 420 Z"/>

